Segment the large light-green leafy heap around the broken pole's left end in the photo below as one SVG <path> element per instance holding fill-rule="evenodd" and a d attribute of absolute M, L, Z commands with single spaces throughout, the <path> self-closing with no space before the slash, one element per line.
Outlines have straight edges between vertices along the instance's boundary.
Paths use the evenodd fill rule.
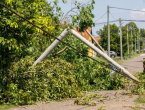
<path fill-rule="evenodd" d="M 11 65 L 2 80 L 1 103 L 32 104 L 77 97 L 80 87 L 73 74 L 73 65 L 57 58 L 45 60 L 34 68 L 33 63 L 34 59 L 27 56 Z"/>

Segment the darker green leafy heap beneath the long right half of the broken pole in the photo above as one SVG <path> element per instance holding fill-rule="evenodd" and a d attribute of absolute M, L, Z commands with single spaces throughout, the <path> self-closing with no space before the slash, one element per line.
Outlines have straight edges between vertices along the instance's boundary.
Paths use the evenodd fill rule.
<path fill-rule="evenodd" d="M 110 69 L 92 60 L 78 60 L 75 75 L 84 90 L 117 90 L 124 88 L 121 76 L 110 77 Z"/>

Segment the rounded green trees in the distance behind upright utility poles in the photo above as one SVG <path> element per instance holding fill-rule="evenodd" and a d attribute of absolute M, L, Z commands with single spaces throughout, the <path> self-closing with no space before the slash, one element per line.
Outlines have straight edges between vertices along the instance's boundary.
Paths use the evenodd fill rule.
<path fill-rule="evenodd" d="M 137 38 L 137 33 L 139 33 L 139 28 L 134 22 L 128 23 L 128 38 L 129 38 L 129 50 L 131 53 L 132 50 L 132 41 L 133 45 L 135 45 L 135 37 Z M 131 30 L 132 30 L 132 37 L 131 37 Z M 97 31 L 97 33 L 101 36 L 101 40 L 99 41 L 100 45 L 107 50 L 108 49 L 108 31 L 107 25 L 104 25 L 103 29 Z M 119 27 L 115 24 L 110 25 L 110 49 L 112 51 L 116 51 L 118 55 L 120 55 L 120 35 L 119 35 Z M 137 46 L 136 46 L 137 47 Z M 142 47 L 142 41 L 141 41 Z M 122 49 L 123 54 L 127 54 L 127 24 L 122 27 Z M 133 50 L 135 46 L 133 47 Z"/>

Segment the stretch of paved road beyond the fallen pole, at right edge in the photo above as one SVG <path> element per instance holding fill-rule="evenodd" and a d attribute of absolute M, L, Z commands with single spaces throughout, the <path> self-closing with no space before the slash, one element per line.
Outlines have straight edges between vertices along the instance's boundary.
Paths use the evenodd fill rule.
<path fill-rule="evenodd" d="M 135 57 L 132 60 L 128 60 L 127 62 L 121 64 L 123 67 L 126 67 L 127 70 L 135 74 L 137 72 L 142 72 L 143 71 L 143 58 L 145 58 L 145 54 L 141 54 L 138 57 Z"/>

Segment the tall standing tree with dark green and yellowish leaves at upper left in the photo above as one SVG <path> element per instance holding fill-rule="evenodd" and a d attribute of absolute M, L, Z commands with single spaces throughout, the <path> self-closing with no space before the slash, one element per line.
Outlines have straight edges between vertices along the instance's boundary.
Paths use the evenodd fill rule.
<path fill-rule="evenodd" d="M 6 3 L 5 3 L 6 2 Z M 52 26 L 52 12 L 51 6 L 45 0 L 37 1 L 23 1 L 23 0 L 8 0 L 5 1 L 9 8 L 25 17 L 26 19 L 35 22 L 38 26 L 44 26 L 47 31 L 51 32 L 54 29 Z M 0 69 L 10 66 L 12 61 L 25 56 L 35 41 L 41 43 L 43 33 L 40 30 L 36 31 L 32 25 L 25 20 L 17 17 L 15 14 L 8 11 L 6 8 L 0 8 Z M 47 12 L 43 10 L 47 10 Z M 39 20 L 37 20 L 39 18 Z M 39 24 L 39 23 L 42 24 Z M 41 46 L 41 45 L 40 45 Z M 30 50 L 31 49 L 31 50 Z M 42 51 L 42 50 L 41 50 Z"/>

